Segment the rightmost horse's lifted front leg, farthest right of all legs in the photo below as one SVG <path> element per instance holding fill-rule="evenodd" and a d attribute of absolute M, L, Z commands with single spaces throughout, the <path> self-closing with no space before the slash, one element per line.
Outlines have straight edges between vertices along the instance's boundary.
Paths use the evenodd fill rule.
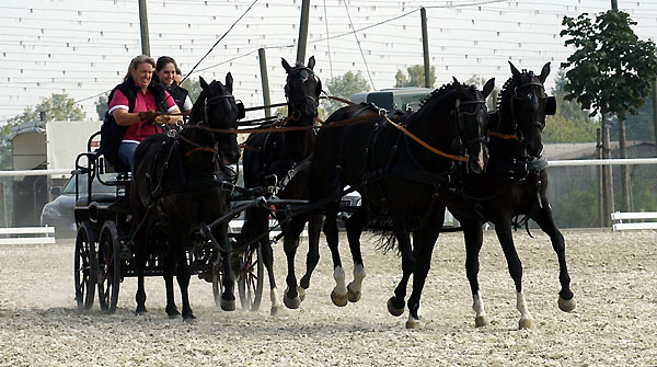
<path fill-rule="evenodd" d="M 564 312 L 573 311 L 577 306 L 577 302 L 575 301 L 575 295 L 570 290 L 570 276 L 568 275 L 568 266 L 566 266 L 566 243 L 563 234 L 554 225 L 550 204 L 543 203 L 543 209 L 534 221 L 541 227 L 545 234 L 550 236 L 552 249 L 556 252 L 556 257 L 558 260 L 558 282 L 562 286 L 562 289 L 558 293 L 558 308 Z"/>

